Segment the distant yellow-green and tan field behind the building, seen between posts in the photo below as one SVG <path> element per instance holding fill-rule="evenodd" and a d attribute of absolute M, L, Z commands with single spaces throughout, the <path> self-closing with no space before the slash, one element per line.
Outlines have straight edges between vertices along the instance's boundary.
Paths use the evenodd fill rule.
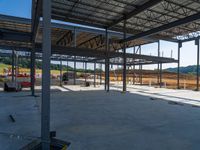
<path fill-rule="evenodd" d="M 0 75 L 3 75 L 4 68 L 11 68 L 10 65 L 5 65 L 0 63 Z M 30 69 L 28 68 L 20 68 L 20 73 L 30 73 Z M 36 69 L 36 74 L 41 74 L 41 69 Z M 59 70 L 51 70 L 51 74 L 53 75 L 60 75 Z M 140 72 L 138 70 L 135 71 L 135 73 L 127 71 L 127 82 L 130 84 L 133 82 L 133 77 L 135 77 L 135 82 L 139 84 L 139 74 Z M 77 73 L 77 75 L 80 75 L 80 73 Z M 142 83 L 144 85 L 151 85 L 151 86 L 158 86 L 157 84 L 157 77 L 158 72 L 153 70 L 143 70 L 142 72 Z M 171 72 L 163 72 L 162 75 L 162 84 L 166 88 L 177 88 L 177 74 L 171 73 Z M 54 79 L 55 83 L 58 82 L 58 79 Z M 102 80 L 104 80 L 104 74 L 102 74 Z M 121 72 L 110 72 L 110 80 L 112 82 L 118 82 L 122 81 L 122 74 Z M 0 80 L 1 81 L 1 80 Z M 2 80 L 3 81 L 3 80 Z M 39 80 L 38 80 L 39 81 Z M 38 83 L 40 84 L 40 82 Z M 196 76 L 190 75 L 190 74 L 181 74 L 180 75 L 180 87 L 185 89 L 192 89 L 194 90 L 196 88 Z"/>

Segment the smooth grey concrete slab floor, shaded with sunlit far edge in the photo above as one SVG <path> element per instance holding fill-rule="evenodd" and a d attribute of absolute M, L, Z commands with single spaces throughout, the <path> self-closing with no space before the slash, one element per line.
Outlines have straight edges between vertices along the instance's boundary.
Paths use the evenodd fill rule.
<path fill-rule="evenodd" d="M 55 89 L 51 130 L 71 142 L 70 150 L 200 148 L 200 108 L 168 103 L 176 99 L 184 103 L 187 98 L 199 102 L 199 92 L 140 86 L 128 86 L 125 94 L 115 90 L 119 87 L 111 87 L 109 93 L 103 86 Z M 41 96 L 29 94 L 0 92 L 0 149 L 16 150 L 40 136 Z"/>

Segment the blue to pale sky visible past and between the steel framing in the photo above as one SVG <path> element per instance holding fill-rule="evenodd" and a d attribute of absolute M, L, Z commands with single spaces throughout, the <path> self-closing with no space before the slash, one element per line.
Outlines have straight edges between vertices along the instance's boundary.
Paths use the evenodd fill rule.
<path fill-rule="evenodd" d="M 31 17 L 31 1 L 32 0 L 0 0 L 0 14 L 30 18 Z M 128 51 L 131 51 L 128 50 Z M 171 51 L 173 51 L 173 58 L 177 58 L 177 44 L 161 41 L 161 52 L 164 57 L 170 57 Z M 183 44 L 181 48 L 181 66 L 188 66 L 196 64 L 196 51 L 197 48 L 194 45 L 194 41 Z M 142 54 L 157 55 L 157 44 L 148 44 L 142 46 Z M 72 65 L 72 63 L 70 63 Z M 163 68 L 176 67 L 177 64 L 163 65 Z M 78 67 L 82 67 L 82 64 L 78 64 Z M 90 65 L 91 67 L 91 65 Z M 144 66 L 147 69 L 153 69 L 156 65 Z"/>

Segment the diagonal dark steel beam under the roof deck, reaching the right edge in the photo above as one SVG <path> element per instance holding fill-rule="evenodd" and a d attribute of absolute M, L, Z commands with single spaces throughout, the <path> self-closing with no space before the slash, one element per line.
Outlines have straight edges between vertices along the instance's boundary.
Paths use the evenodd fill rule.
<path fill-rule="evenodd" d="M 171 23 L 168 23 L 168 24 L 165 24 L 165 25 L 150 29 L 148 31 L 144 31 L 144 32 L 138 33 L 138 34 L 136 34 L 134 36 L 130 36 L 130 37 L 126 38 L 126 39 L 120 40 L 119 42 L 123 43 L 123 42 L 136 40 L 136 39 L 139 39 L 139 38 L 144 38 L 144 37 L 147 37 L 147 36 L 162 32 L 162 31 L 169 30 L 171 28 L 178 27 L 178 26 L 183 25 L 183 24 L 187 24 L 187 23 L 199 20 L 199 19 L 200 19 L 200 12 L 196 13 L 196 14 L 193 14 L 191 16 L 188 16 L 188 17 L 173 21 Z"/>

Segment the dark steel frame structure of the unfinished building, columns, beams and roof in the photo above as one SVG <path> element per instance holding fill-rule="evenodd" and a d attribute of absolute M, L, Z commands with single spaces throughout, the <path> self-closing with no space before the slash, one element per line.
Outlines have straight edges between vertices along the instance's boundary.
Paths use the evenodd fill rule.
<path fill-rule="evenodd" d="M 52 23 L 51 19 L 78 25 Z M 195 40 L 199 90 L 199 20 L 200 2 L 197 0 L 32 0 L 31 20 L 0 15 L 1 48 L 31 52 L 32 95 L 36 52 L 43 55 L 42 148 L 49 149 L 50 143 L 50 59 L 61 61 L 65 58 L 60 55 L 66 55 L 67 61 L 71 58 L 75 62 L 74 68 L 76 62 L 85 62 L 85 68 L 88 62 L 93 62 L 95 68 L 96 63 L 105 64 L 107 91 L 110 65 L 123 65 L 124 92 L 128 65 L 158 64 L 161 86 L 162 64 L 176 62 L 177 87 L 180 88 L 181 46 L 185 41 Z M 73 36 L 74 30 L 76 36 Z M 159 40 L 178 43 L 178 60 L 160 57 Z M 158 57 L 137 54 L 136 51 L 126 53 L 128 47 L 151 42 L 158 42 Z"/>

